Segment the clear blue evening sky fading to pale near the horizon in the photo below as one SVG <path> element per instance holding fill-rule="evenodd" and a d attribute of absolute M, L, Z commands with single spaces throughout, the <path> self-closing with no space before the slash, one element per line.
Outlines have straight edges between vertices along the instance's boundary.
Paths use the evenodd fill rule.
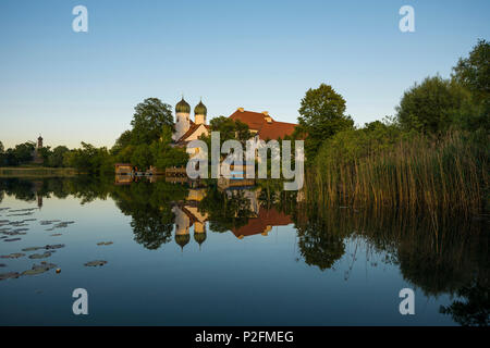
<path fill-rule="evenodd" d="M 72 9 L 88 9 L 74 33 Z M 415 9 L 401 33 L 399 9 Z M 236 108 L 295 122 L 310 87 L 332 85 L 359 125 L 394 114 L 403 91 L 449 76 L 490 1 L 0 1 L 0 141 L 112 146 L 133 108 L 203 97 L 208 119 Z"/>

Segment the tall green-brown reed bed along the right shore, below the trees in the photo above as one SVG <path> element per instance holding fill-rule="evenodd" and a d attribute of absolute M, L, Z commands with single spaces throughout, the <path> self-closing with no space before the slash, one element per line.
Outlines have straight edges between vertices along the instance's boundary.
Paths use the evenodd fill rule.
<path fill-rule="evenodd" d="M 307 171 L 307 197 L 327 204 L 477 214 L 488 201 L 488 140 L 487 134 L 450 133 L 372 146 L 372 139 L 340 136 L 324 144 Z"/>

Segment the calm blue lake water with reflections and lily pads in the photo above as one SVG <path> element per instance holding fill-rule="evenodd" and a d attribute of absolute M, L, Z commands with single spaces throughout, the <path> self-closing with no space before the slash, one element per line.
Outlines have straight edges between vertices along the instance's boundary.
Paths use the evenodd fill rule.
<path fill-rule="evenodd" d="M 266 189 L 3 178 L 0 256 L 22 256 L 0 259 L 0 324 L 488 324 L 487 223 Z M 73 314 L 75 288 L 88 315 Z"/>

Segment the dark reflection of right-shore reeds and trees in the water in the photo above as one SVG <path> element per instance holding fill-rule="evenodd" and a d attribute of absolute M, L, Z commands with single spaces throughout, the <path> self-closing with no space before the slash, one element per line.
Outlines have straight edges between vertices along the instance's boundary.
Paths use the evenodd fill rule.
<path fill-rule="evenodd" d="M 339 240 L 354 236 L 387 253 L 385 262 L 397 264 L 427 296 L 456 294 L 488 272 L 489 237 L 481 221 L 303 206 L 293 215 L 299 249 L 306 263 L 320 269 L 331 266 L 335 250 L 341 252 Z"/>

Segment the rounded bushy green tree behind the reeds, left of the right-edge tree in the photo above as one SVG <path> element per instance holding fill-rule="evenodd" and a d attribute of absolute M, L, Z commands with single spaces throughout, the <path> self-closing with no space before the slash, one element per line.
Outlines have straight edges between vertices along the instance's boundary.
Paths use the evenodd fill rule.
<path fill-rule="evenodd" d="M 404 92 L 396 116 L 406 130 L 436 134 L 446 130 L 468 101 L 469 94 L 460 84 L 427 77 Z"/>

